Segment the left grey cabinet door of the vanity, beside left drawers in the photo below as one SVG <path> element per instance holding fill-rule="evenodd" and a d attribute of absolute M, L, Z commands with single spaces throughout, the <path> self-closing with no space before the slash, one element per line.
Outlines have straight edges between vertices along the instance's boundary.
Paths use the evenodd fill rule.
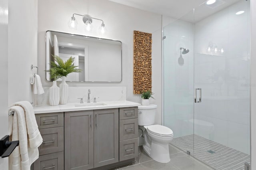
<path fill-rule="evenodd" d="M 65 170 L 94 168 L 93 111 L 66 112 Z"/>

